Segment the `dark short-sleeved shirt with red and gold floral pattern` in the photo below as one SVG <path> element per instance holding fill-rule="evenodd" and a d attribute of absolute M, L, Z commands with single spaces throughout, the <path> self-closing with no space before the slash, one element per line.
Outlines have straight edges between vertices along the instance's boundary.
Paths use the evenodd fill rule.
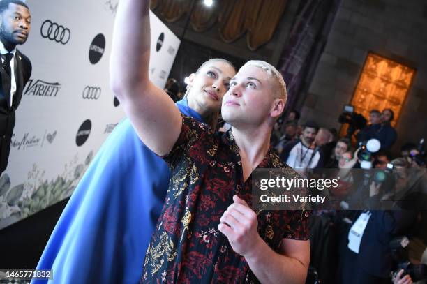
<path fill-rule="evenodd" d="M 183 116 L 181 134 L 164 158 L 172 177 L 141 283 L 257 283 L 244 257 L 218 231 L 233 195 L 252 203 L 252 178 L 243 181 L 231 130 L 212 133 L 206 124 Z M 258 166 L 280 167 L 287 166 L 271 151 Z M 308 239 L 308 211 L 255 212 L 258 232 L 274 251 L 283 238 Z"/>

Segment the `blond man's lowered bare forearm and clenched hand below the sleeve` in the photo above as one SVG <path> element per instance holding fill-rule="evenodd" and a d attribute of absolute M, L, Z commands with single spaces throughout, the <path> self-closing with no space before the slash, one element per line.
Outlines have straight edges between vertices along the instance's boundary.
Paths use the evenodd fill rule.
<path fill-rule="evenodd" d="M 236 195 L 220 218 L 218 230 L 236 253 L 243 255 L 261 283 L 304 283 L 310 262 L 310 242 L 283 239 L 280 253 L 258 234 L 257 214 Z M 406 283 L 405 283 L 406 284 Z"/>

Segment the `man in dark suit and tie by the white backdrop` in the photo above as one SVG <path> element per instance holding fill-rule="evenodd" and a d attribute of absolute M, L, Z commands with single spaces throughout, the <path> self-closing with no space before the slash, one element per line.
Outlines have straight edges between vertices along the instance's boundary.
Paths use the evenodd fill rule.
<path fill-rule="evenodd" d="M 27 41 L 30 28 L 31 15 L 24 2 L 0 1 L 0 174 L 8 165 L 15 110 L 31 76 L 31 62 L 16 49 Z"/>

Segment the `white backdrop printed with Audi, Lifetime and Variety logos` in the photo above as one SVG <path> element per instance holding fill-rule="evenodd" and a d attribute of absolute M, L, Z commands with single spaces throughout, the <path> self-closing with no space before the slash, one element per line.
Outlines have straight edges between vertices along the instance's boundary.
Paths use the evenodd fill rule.
<path fill-rule="evenodd" d="M 125 117 L 108 73 L 117 1 L 26 2 L 31 32 L 18 49 L 33 72 L 0 177 L 0 229 L 69 197 Z M 179 43 L 151 13 L 149 74 L 158 87 L 165 86 Z"/>

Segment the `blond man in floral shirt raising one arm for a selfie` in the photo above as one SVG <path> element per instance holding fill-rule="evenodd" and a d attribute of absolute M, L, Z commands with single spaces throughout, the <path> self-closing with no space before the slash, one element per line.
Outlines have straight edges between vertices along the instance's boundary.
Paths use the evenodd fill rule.
<path fill-rule="evenodd" d="M 263 61 L 246 63 L 222 101 L 232 128 L 213 133 L 149 81 L 149 38 L 149 1 L 120 1 L 111 86 L 141 140 L 172 168 L 141 282 L 304 283 L 308 212 L 250 208 L 253 169 L 286 167 L 269 147 L 286 103 L 280 73 Z"/>

